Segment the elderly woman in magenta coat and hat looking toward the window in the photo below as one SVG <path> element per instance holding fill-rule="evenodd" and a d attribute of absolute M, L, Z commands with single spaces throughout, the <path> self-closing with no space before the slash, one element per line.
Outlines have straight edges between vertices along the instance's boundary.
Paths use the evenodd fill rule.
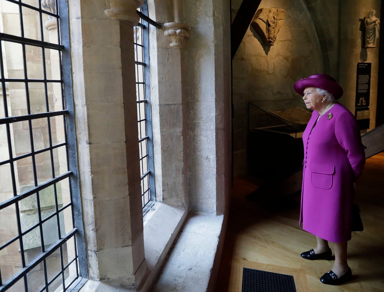
<path fill-rule="evenodd" d="M 304 162 L 300 222 L 316 235 L 317 246 L 301 257 L 330 260 L 332 270 L 321 278 L 338 285 L 351 279 L 347 263 L 347 242 L 351 239 L 354 182 L 365 164 L 364 147 L 354 115 L 336 99 L 343 89 L 329 75 L 316 74 L 295 83 L 312 117 L 303 133 Z"/>

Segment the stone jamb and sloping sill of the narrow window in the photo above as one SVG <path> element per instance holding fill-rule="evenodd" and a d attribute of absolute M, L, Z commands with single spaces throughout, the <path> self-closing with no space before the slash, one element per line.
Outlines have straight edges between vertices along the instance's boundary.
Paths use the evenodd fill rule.
<path fill-rule="evenodd" d="M 149 18 L 163 23 L 159 7 L 164 8 L 164 2 L 146 2 Z M 144 217 L 144 251 L 150 272 L 144 287 L 156 279 L 189 213 L 184 52 L 169 46 L 164 30 L 149 26 L 156 204 Z"/>

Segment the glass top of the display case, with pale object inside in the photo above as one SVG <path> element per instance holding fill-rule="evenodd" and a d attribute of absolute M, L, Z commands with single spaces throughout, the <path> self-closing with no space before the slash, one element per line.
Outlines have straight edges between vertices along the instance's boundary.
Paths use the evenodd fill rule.
<path fill-rule="evenodd" d="M 264 130 L 301 138 L 312 113 L 294 99 L 249 102 L 249 130 Z"/>

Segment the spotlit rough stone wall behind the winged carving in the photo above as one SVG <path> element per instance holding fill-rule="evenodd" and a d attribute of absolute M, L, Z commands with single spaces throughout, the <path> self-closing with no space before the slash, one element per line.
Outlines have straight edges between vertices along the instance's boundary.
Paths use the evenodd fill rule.
<path fill-rule="evenodd" d="M 242 1 L 232 1 L 232 21 Z M 310 14 L 301 1 L 264 0 L 259 8 L 286 10 L 275 45 L 267 47 L 249 27 L 233 58 L 233 173 L 247 170 L 248 102 L 301 100 L 293 89 L 300 78 L 323 71 Z"/>

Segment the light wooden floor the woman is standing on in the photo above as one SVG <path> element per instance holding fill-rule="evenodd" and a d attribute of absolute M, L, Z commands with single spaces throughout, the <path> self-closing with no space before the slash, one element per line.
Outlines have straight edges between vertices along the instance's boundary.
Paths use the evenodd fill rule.
<path fill-rule="evenodd" d="M 348 243 L 348 264 L 353 280 L 324 285 L 319 278 L 333 260 L 305 260 L 300 253 L 316 246 L 314 235 L 298 226 L 300 194 L 274 203 L 250 202 L 246 195 L 260 182 L 234 179 L 227 233 L 215 292 L 241 291 L 240 265 L 247 261 L 301 269 L 309 291 L 384 291 L 384 153 L 367 159 L 356 184 L 355 202 L 361 209 L 364 231 L 353 232 Z M 332 249 L 332 244 L 330 244 Z M 276 268 L 277 269 L 277 268 Z M 276 271 L 278 272 L 278 271 Z"/>

